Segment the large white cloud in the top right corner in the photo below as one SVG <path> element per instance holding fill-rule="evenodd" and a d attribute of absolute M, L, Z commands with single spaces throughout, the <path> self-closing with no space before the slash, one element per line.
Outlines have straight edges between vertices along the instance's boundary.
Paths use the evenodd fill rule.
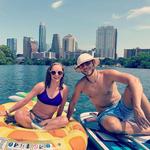
<path fill-rule="evenodd" d="M 127 19 L 138 17 L 144 14 L 150 14 L 150 6 L 129 10 Z"/>

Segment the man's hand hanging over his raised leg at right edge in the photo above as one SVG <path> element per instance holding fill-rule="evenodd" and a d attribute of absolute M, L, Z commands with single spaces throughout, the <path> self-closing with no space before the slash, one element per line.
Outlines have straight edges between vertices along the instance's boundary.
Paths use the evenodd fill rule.
<path fill-rule="evenodd" d="M 150 127 L 150 122 L 145 117 L 145 114 L 141 108 L 134 108 L 134 117 L 140 129 L 147 129 Z"/>

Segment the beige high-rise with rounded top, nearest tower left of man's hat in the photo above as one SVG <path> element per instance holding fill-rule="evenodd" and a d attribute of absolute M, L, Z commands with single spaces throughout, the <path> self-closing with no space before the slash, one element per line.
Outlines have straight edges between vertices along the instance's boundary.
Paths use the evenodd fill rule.
<path fill-rule="evenodd" d="M 62 43 L 63 43 L 62 51 L 64 52 L 64 55 L 66 52 L 75 52 L 76 51 L 77 42 L 73 35 L 71 35 L 71 34 L 66 35 L 63 38 Z"/>

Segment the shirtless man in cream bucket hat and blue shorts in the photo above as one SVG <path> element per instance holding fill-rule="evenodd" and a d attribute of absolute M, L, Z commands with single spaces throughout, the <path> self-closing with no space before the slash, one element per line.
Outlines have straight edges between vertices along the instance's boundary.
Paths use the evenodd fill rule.
<path fill-rule="evenodd" d="M 116 70 L 96 70 L 99 59 L 84 53 L 78 57 L 75 70 L 85 76 L 78 81 L 67 117 L 70 119 L 83 92 L 99 112 L 97 121 L 114 133 L 150 134 L 150 102 L 143 93 L 139 79 Z M 126 84 L 123 96 L 116 82 Z M 129 121 L 129 120 L 134 121 Z"/>

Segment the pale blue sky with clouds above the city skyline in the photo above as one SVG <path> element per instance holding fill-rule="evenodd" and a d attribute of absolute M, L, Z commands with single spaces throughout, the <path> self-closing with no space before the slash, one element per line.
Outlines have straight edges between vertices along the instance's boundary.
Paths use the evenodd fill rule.
<path fill-rule="evenodd" d="M 150 48 L 150 0 L 0 0 L 0 45 L 17 38 L 22 53 L 23 37 L 39 40 L 39 24 L 46 25 L 46 42 L 52 36 L 76 37 L 78 47 L 95 47 L 100 26 L 117 28 L 117 53 L 127 48 Z"/>

